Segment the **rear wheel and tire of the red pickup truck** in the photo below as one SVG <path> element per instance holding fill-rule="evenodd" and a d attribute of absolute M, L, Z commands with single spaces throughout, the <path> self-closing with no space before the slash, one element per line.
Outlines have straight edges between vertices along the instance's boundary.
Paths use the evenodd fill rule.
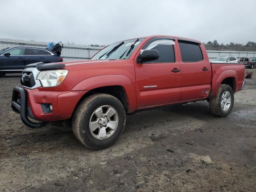
<path fill-rule="evenodd" d="M 229 93 L 230 97 L 228 97 L 226 100 L 224 99 L 225 101 L 223 100 L 223 103 L 222 103 L 222 96 L 224 95 L 224 93 L 227 93 L 226 96 L 228 96 L 228 93 Z M 231 99 L 231 101 L 229 100 L 229 98 Z M 229 102 L 230 104 L 228 104 Z M 227 116 L 231 112 L 233 105 L 234 105 L 234 92 L 232 88 L 226 84 L 221 84 L 216 96 L 209 100 L 209 107 L 212 114 L 220 117 Z"/>

